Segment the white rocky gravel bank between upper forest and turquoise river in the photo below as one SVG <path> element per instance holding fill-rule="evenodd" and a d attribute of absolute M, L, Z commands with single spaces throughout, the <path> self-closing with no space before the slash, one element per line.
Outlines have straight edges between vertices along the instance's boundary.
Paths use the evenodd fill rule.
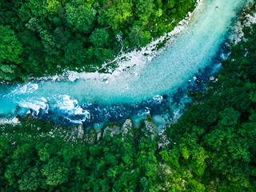
<path fill-rule="evenodd" d="M 189 25 L 191 19 L 193 19 L 194 14 L 198 14 L 200 7 L 202 6 L 202 0 L 198 0 L 194 5 L 195 9 L 193 12 L 189 12 L 181 21 L 175 21 L 172 23 L 177 23 L 177 26 L 174 26 L 174 29 L 170 32 L 163 34 L 160 38 L 154 38 L 146 46 L 140 46 L 138 49 L 130 50 L 122 45 L 122 48 L 114 60 L 110 62 L 104 62 L 101 67 L 96 67 L 94 72 L 88 71 L 75 71 L 75 70 L 64 70 L 63 74 L 58 74 L 54 76 L 41 77 L 41 78 L 28 78 L 29 81 L 38 82 L 38 81 L 70 81 L 74 82 L 77 79 L 88 80 L 91 78 L 96 78 L 102 80 L 102 82 L 109 83 L 107 80 L 110 77 L 118 77 L 122 75 L 123 71 L 133 70 L 134 67 L 145 68 L 148 65 L 147 62 L 150 62 L 152 59 L 158 57 L 159 54 L 162 54 L 162 51 L 166 50 L 170 44 L 174 42 L 178 34 L 182 32 Z M 122 39 L 118 40 L 122 42 Z M 136 72 L 131 72 L 135 75 L 139 75 Z"/>

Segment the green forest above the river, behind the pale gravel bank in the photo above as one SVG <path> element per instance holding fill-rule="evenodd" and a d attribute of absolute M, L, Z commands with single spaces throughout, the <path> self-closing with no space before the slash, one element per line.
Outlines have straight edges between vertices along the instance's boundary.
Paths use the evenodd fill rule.
<path fill-rule="evenodd" d="M 194 4 L 194 0 L 1 0 L 0 81 L 24 82 L 66 70 L 95 71 L 122 49 L 145 46 L 173 30 Z"/>

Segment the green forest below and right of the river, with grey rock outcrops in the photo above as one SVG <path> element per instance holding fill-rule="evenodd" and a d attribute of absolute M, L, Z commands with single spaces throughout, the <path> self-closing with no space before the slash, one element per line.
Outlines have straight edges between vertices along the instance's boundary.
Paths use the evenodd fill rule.
<path fill-rule="evenodd" d="M 17 39 L 10 27 L 2 30 Z M 0 126 L 1 190 L 255 191 L 256 25 L 243 32 L 246 41 L 232 47 L 216 81 L 193 94 L 182 118 L 166 128 L 166 145 L 150 116 L 139 129 L 126 120 L 82 138 L 31 118 Z M 120 132 L 111 133 L 116 127 Z"/>

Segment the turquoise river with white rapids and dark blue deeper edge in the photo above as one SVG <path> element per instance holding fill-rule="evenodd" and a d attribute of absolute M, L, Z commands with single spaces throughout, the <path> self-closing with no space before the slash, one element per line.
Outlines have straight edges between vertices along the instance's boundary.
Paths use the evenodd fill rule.
<path fill-rule="evenodd" d="M 75 82 L 2 86 L 0 118 L 14 116 L 16 106 L 20 106 L 17 112 L 20 115 L 32 109 L 41 118 L 60 124 L 73 122 L 100 127 L 102 122 L 122 121 L 127 117 L 136 120 L 153 114 L 160 126 L 174 118 L 175 109 L 183 105 L 184 91 L 191 86 L 188 80 L 213 63 L 212 58 L 245 3 L 246 0 L 205 0 L 190 25 L 162 54 L 146 65 L 145 60 L 135 60 L 137 66 L 110 76 L 108 84 L 94 76 Z M 92 119 L 86 122 L 89 113 Z"/>

